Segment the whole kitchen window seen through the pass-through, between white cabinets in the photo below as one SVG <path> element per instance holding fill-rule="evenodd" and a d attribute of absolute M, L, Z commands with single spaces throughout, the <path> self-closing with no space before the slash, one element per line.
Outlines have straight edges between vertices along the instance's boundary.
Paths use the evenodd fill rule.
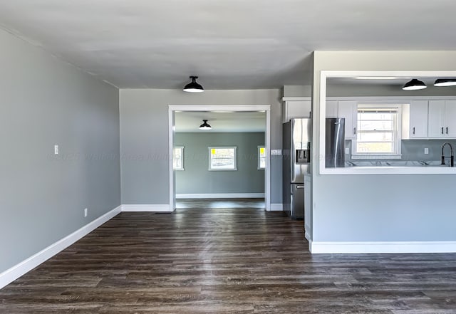
<path fill-rule="evenodd" d="M 354 158 L 400 158 L 401 105 L 358 105 Z"/>

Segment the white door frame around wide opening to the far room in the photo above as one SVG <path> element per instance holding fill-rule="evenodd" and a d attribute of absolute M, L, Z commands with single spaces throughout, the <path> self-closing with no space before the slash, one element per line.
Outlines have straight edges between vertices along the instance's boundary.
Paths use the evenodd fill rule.
<path fill-rule="evenodd" d="M 264 171 L 264 206 L 271 210 L 271 105 L 168 105 L 168 154 L 170 156 L 170 211 L 176 208 L 175 172 L 172 169 L 176 111 L 264 111 L 266 112 L 266 169 Z"/>

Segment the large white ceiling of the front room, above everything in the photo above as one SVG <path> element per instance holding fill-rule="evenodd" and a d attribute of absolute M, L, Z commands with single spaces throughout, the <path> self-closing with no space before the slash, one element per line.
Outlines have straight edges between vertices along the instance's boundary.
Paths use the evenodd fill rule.
<path fill-rule="evenodd" d="M 309 84 L 311 51 L 456 50 L 454 0 L 2 0 L 0 27 L 120 88 Z"/>

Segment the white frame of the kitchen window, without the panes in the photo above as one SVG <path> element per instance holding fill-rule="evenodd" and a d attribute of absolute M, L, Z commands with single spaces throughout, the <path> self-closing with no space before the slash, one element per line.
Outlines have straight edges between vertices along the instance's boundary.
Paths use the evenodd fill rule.
<path fill-rule="evenodd" d="M 363 108 L 381 108 L 381 109 L 392 109 L 392 110 L 397 110 L 397 115 L 395 119 L 395 125 L 394 125 L 394 133 L 393 133 L 393 142 L 394 142 L 394 152 L 393 154 L 390 153 L 358 153 L 356 152 L 356 147 L 357 147 L 357 140 L 352 140 L 351 141 L 351 151 L 352 159 L 400 159 L 402 157 L 401 154 L 401 147 L 402 147 L 402 108 L 403 104 L 401 103 L 369 103 L 369 104 L 361 104 L 358 103 L 356 106 L 356 112 L 355 112 L 355 117 L 356 117 L 356 127 L 358 130 L 358 134 L 360 132 L 359 127 L 358 127 L 358 109 L 363 109 Z M 356 135 L 358 137 L 358 135 Z"/>

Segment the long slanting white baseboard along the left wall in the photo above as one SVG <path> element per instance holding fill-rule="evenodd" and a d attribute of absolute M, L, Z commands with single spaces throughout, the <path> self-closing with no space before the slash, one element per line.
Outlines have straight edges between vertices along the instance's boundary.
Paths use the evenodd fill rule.
<path fill-rule="evenodd" d="M 98 217 L 94 221 L 86 224 L 86 226 L 81 227 L 74 231 L 72 234 L 69 234 L 63 239 L 58 240 L 56 243 L 51 244 L 47 248 L 39 251 L 38 253 L 30 256 L 21 263 L 16 264 L 15 266 L 7 269 L 3 273 L 0 273 L 0 289 L 4 288 L 4 286 L 8 285 L 9 283 L 15 281 L 17 278 L 23 276 L 28 271 L 31 271 L 36 266 L 40 265 L 41 263 L 47 261 L 52 256 L 56 255 L 57 253 L 63 251 L 71 244 L 75 243 L 79 239 L 83 238 L 93 230 L 97 229 L 99 226 L 104 224 L 106 221 L 112 219 L 114 216 L 120 214 L 120 206 L 116 207 L 112 211 L 108 211 L 103 216 Z"/>

